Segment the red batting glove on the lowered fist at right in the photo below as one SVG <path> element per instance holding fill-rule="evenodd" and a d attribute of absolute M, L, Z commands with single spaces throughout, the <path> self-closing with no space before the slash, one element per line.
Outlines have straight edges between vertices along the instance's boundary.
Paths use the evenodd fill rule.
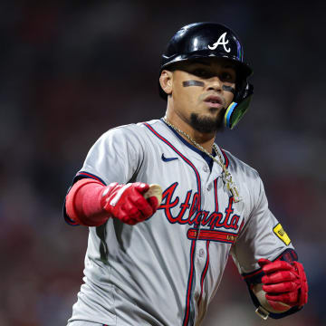
<path fill-rule="evenodd" d="M 283 311 L 283 302 L 290 307 L 302 307 L 308 302 L 308 283 L 302 264 L 278 260 L 259 259 L 265 275 L 262 277 L 263 290 L 268 303 L 277 311 Z"/>

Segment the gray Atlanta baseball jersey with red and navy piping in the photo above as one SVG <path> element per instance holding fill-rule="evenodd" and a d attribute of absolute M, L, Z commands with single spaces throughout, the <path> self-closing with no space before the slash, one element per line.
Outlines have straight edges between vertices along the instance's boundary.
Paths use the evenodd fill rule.
<path fill-rule="evenodd" d="M 199 325 L 229 254 L 247 275 L 259 269 L 259 258 L 273 260 L 293 248 L 258 173 L 218 149 L 240 202 L 225 188 L 222 168 L 163 120 L 110 129 L 96 141 L 77 178 L 157 183 L 163 197 L 158 211 L 137 225 L 110 218 L 90 227 L 70 321 Z"/>

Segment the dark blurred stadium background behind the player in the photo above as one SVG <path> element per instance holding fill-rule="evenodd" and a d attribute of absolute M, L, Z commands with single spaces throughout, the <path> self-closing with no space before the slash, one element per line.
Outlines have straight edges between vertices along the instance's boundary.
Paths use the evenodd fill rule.
<path fill-rule="evenodd" d="M 305 4 L 305 5 L 303 5 Z M 88 230 L 62 201 L 93 142 L 157 119 L 159 55 L 179 27 L 233 28 L 254 68 L 254 101 L 217 142 L 256 168 L 304 264 L 302 312 L 261 321 L 232 262 L 205 326 L 324 325 L 325 5 L 258 1 L 0 3 L 0 325 L 65 325 Z"/>

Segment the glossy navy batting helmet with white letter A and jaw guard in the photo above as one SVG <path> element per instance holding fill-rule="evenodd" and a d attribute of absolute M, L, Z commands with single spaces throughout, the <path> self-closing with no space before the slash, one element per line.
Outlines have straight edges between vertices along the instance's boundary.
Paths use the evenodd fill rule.
<path fill-rule="evenodd" d="M 233 129 L 249 107 L 254 86 L 247 82 L 252 74 L 250 66 L 244 62 L 244 50 L 236 34 L 223 24 L 187 24 L 177 31 L 168 42 L 162 54 L 160 72 L 172 69 L 177 62 L 187 62 L 198 58 L 225 58 L 235 63 L 236 89 L 234 101 L 225 112 L 225 126 Z M 168 95 L 159 83 L 159 95 L 167 100 Z"/>

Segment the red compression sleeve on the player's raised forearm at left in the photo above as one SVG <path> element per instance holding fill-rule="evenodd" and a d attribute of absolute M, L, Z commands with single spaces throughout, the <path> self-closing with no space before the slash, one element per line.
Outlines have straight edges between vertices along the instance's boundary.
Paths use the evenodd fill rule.
<path fill-rule="evenodd" d="M 101 206 L 102 192 L 105 186 L 101 182 L 83 178 L 77 181 L 66 197 L 66 212 L 80 225 L 99 226 L 110 217 Z"/>

